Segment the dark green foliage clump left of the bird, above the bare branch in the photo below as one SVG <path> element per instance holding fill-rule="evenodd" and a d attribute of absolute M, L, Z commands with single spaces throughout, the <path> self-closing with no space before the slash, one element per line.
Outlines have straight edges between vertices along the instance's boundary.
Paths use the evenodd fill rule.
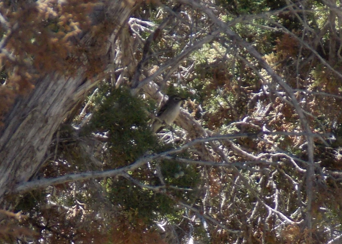
<path fill-rule="evenodd" d="M 108 150 L 113 160 L 109 167 L 128 165 L 156 145 L 145 107 L 127 89 L 111 90 L 102 99 L 91 120 L 90 131 L 108 133 Z"/>

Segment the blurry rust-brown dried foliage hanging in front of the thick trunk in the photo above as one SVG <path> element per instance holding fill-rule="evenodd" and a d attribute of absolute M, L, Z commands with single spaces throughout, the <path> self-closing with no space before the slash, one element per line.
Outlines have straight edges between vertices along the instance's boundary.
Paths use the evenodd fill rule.
<path fill-rule="evenodd" d="M 45 74 L 73 76 L 83 67 L 93 77 L 103 70 L 103 39 L 113 26 L 106 21 L 92 25 L 89 14 L 97 4 L 92 0 L 0 3 L 9 26 L 2 29 L 6 45 L 0 52 L 0 67 L 6 82 L 0 86 L 0 120 L 15 98 L 30 93 Z"/>

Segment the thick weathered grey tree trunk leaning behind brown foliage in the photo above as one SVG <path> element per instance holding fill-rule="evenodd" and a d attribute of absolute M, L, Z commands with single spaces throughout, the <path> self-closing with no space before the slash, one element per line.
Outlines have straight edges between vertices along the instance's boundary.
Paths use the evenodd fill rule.
<path fill-rule="evenodd" d="M 126 0 L 106 2 L 101 14 L 97 8 L 94 16 L 105 16 L 103 21 L 114 23 L 115 29 L 108 40 L 116 39 L 132 8 Z M 83 34 L 81 41 L 88 41 L 84 38 L 91 35 Z M 108 51 L 114 48 L 111 45 L 107 49 L 109 55 Z M 7 114 L 0 134 L 0 202 L 16 184 L 27 181 L 39 170 L 58 126 L 95 85 L 96 82 L 86 78 L 86 71 L 79 68 L 73 77 L 51 72 L 36 82 L 29 95 L 18 98 Z"/>

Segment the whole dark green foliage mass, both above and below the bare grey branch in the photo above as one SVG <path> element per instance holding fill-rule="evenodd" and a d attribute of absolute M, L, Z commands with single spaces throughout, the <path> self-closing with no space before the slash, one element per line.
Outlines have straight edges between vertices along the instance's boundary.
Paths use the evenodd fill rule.
<path fill-rule="evenodd" d="M 170 91 L 171 92 L 171 91 Z M 173 91 L 176 92 L 176 91 Z M 139 98 L 132 97 L 125 89 L 114 89 L 107 92 L 105 89 L 98 94 L 101 106 L 93 115 L 89 131 L 108 134 L 107 148 L 111 159 L 106 167 L 114 168 L 131 164 L 146 151 L 154 149 L 163 151 L 169 146 L 156 144 L 156 137 L 151 134 L 147 124 L 145 108 L 147 107 Z M 155 165 L 155 163 L 153 164 Z M 160 162 L 165 183 L 179 188 L 195 188 L 199 181 L 196 168 L 177 163 L 176 161 Z M 150 186 L 160 186 L 160 180 L 148 173 L 144 166 L 132 172 L 132 177 Z M 126 178 L 107 179 L 106 191 L 111 203 L 121 208 L 128 216 L 129 222 L 149 221 L 157 216 L 175 214 L 174 201 L 165 194 L 147 188 L 140 188 Z M 194 192 L 167 189 L 173 195 L 192 199 Z"/>

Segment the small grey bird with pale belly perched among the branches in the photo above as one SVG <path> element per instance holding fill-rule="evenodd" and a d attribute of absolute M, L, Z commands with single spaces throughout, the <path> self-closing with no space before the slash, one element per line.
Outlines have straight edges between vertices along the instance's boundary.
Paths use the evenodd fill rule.
<path fill-rule="evenodd" d="M 177 95 L 169 97 L 169 100 L 156 114 L 156 119 L 151 126 L 153 133 L 157 133 L 166 125 L 173 123 L 181 111 L 181 103 L 183 100 L 184 98 Z"/>

